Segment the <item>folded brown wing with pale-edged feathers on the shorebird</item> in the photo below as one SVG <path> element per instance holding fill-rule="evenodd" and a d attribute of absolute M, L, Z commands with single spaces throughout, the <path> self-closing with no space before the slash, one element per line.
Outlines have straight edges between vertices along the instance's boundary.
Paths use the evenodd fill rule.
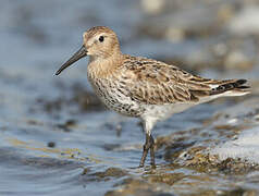
<path fill-rule="evenodd" d="M 133 100 L 148 105 L 197 102 L 230 81 L 202 78 L 160 61 L 127 57 L 125 87 Z"/>

